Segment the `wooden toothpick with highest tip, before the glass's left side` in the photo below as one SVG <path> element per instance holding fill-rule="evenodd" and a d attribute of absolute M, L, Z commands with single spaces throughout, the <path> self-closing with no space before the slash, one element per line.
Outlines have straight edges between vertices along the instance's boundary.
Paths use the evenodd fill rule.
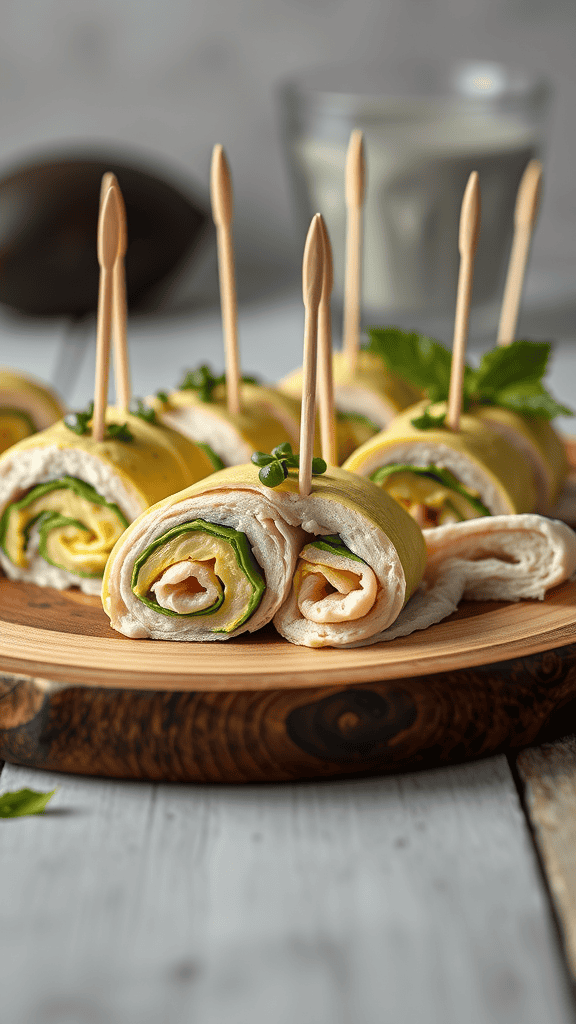
<path fill-rule="evenodd" d="M 351 373 L 356 370 L 360 349 L 360 302 L 362 293 L 362 207 L 366 190 L 364 134 L 355 129 L 346 153 L 346 265 L 344 274 L 343 351 Z"/>

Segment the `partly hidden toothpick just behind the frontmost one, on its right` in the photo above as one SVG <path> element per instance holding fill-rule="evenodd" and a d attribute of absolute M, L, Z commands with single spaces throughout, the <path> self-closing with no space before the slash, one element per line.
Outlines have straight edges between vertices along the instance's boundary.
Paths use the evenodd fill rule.
<path fill-rule="evenodd" d="M 320 437 L 322 458 L 329 466 L 338 462 L 336 446 L 336 413 L 334 409 L 334 382 L 332 374 L 332 317 L 330 296 L 334 285 L 332 246 L 324 222 L 319 214 L 324 252 L 324 273 L 322 296 L 318 310 L 318 407 L 320 413 Z"/>

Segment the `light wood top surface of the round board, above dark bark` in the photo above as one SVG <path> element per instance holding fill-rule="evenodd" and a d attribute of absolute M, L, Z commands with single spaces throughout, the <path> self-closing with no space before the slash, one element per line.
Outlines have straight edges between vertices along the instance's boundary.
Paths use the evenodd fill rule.
<path fill-rule="evenodd" d="M 422 633 L 369 647 L 311 650 L 274 633 L 225 643 L 174 643 L 58 633 L 1 623 L 0 670 L 131 689 L 259 690 L 377 682 L 491 665 L 576 639 L 576 583 L 551 600 L 477 605 Z M 138 663 L 141 669 L 135 668 Z"/>

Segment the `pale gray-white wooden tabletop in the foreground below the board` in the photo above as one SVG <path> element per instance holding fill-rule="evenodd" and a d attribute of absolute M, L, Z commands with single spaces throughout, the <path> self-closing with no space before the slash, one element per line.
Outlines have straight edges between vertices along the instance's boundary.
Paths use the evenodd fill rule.
<path fill-rule="evenodd" d="M 0 821 L 5 1024 L 567 1024 L 504 758 L 320 784 L 59 785 Z"/>

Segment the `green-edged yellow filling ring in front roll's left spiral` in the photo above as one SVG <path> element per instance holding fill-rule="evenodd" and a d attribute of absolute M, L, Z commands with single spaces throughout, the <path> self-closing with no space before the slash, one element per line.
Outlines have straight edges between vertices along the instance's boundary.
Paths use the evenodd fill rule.
<path fill-rule="evenodd" d="M 162 572 L 178 561 L 206 561 L 221 584 L 221 593 L 209 608 L 177 612 L 163 608 L 151 588 Z M 192 618 L 211 615 L 213 633 L 232 633 L 258 607 L 265 581 L 245 534 L 230 526 L 195 519 L 173 526 L 146 548 L 134 563 L 132 592 L 142 604 L 163 615 Z"/>

